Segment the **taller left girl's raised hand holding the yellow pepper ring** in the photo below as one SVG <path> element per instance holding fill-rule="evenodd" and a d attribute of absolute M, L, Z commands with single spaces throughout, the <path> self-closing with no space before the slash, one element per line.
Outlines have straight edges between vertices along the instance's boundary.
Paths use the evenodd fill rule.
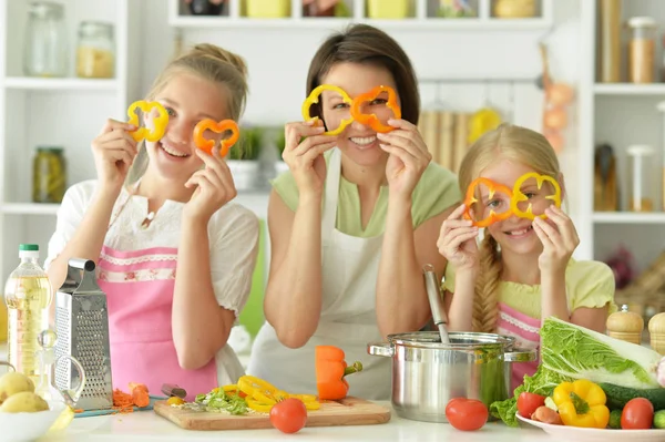
<path fill-rule="evenodd" d="M 110 119 L 92 141 L 92 154 L 101 192 L 115 196 L 120 193 L 139 153 L 137 143 L 130 135 L 130 132 L 136 129 L 132 124 Z"/>

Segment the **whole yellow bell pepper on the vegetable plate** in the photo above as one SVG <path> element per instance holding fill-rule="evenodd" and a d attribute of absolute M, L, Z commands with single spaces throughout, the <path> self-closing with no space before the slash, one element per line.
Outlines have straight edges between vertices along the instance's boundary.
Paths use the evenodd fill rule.
<path fill-rule="evenodd" d="M 584 379 L 562 382 L 554 389 L 552 399 L 564 425 L 604 429 L 610 422 L 607 397 L 596 383 Z"/>

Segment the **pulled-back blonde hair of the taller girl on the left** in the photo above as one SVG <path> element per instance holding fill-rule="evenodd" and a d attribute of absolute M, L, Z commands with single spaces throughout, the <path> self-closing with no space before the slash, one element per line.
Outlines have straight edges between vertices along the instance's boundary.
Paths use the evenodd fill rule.
<path fill-rule="evenodd" d="M 171 61 L 153 82 L 146 100 L 154 100 L 166 84 L 178 74 L 191 73 L 226 88 L 229 117 L 238 121 L 247 102 L 247 65 L 242 56 L 214 44 L 196 44 L 186 53 Z M 141 146 L 125 185 L 136 183 L 147 168 L 147 153 Z"/>

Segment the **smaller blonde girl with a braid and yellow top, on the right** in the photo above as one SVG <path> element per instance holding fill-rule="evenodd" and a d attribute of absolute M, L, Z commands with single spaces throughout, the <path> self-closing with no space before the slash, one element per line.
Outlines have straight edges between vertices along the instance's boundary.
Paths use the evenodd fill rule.
<path fill-rule="evenodd" d="M 544 175 L 542 186 L 524 181 L 526 187 L 513 188 L 529 173 Z M 552 204 L 552 182 L 559 184 L 561 198 L 565 187 L 545 137 L 505 124 L 488 132 L 462 161 L 462 192 L 481 177 L 492 183 L 475 186 L 469 217 L 488 219 L 490 210 L 504 216 L 478 227 L 463 216 L 462 204 L 443 222 L 438 247 L 449 263 L 443 282 L 449 329 L 513 336 L 522 348 L 538 348 L 541 321 L 550 316 L 604 332 L 607 315 L 616 309 L 614 275 L 603 263 L 572 258 L 580 240 L 571 218 Z M 511 191 L 512 197 L 507 195 Z M 510 209 L 516 194 L 525 199 L 520 204 L 530 204 L 534 215 L 543 216 L 518 216 L 520 212 Z M 514 363 L 513 388 L 536 368 L 538 361 Z"/>

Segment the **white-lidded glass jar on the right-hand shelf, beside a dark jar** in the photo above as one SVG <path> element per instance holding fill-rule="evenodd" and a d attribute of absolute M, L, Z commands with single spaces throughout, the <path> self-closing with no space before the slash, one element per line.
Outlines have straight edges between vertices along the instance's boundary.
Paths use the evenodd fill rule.
<path fill-rule="evenodd" d="M 655 153 L 654 147 L 642 144 L 627 148 L 631 176 L 630 212 L 654 212 L 658 184 L 653 173 Z"/>

